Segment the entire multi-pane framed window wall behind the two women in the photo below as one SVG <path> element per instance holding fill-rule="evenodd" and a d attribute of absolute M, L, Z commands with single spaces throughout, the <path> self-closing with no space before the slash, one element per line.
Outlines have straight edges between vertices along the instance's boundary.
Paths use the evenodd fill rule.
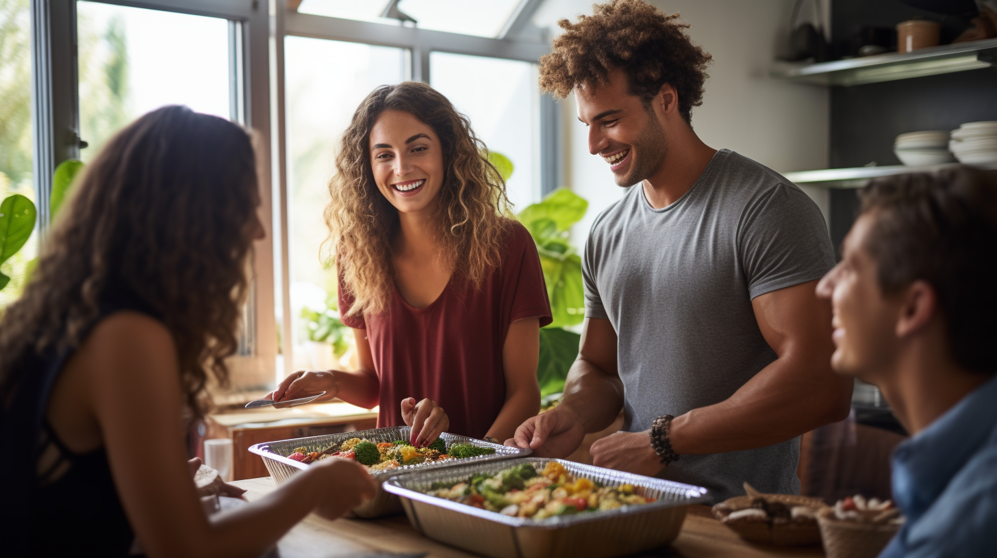
<path fill-rule="evenodd" d="M 38 197 L 44 232 L 56 165 L 93 160 L 143 114 L 181 104 L 246 125 L 258 139 L 272 243 L 256 246 L 254 306 L 240 349 L 252 359 L 233 367 L 234 384 L 262 388 L 291 367 L 332 366 L 337 357 L 328 348 L 316 352 L 312 341 L 342 341 L 327 335 L 336 277 L 321 255 L 322 212 L 350 117 L 376 86 L 428 82 L 471 118 L 489 148 L 512 161 L 513 203 L 536 200 L 540 177 L 551 181 L 543 134 L 557 129 L 540 114 L 535 87 L 535 63 L 548 51 L 529 29 L 537 5 L 0 0 L 0 192 Z M 399 12 L 411 17 L 403 23 Z M 20 260 L 35 253 L 27 246 L 4 272 L 23 268 Z M 0 304 L 16 292 L 0 293 Z M 342 343 L 336 353 L 342 356 Z"/>

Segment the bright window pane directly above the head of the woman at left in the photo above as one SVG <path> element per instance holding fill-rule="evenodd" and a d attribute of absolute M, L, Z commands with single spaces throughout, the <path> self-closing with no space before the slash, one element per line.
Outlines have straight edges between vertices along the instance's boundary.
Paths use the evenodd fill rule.
<path fill-rule="evenodd" d="M 77 37 L 85 162 L 166 105 L 231 117 L 227 20 L 80 1 Z"/>

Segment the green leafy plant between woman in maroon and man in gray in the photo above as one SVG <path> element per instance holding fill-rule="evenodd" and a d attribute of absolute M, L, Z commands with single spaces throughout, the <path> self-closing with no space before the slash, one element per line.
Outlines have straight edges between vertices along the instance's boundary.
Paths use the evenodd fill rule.
<path fill-rule="evenodd" d="M 512 162 L 495 151 L 489 153 L 489 160 L 502 178 L 508 180 L 514 168 Z M 516 215 L 536 243 L 553 318 L 553 322 L 540 329 L 540 359 L 536 367 L 545 405 L 564 391 L 567 372 L 578 356 L 581 336 L 564 329 L 580 324 L 585 318 L 581 257 L 571 245 L 569 234 L 571 225 L 581 220 L 587 209 L 584 198 L 560 188 Z"/>

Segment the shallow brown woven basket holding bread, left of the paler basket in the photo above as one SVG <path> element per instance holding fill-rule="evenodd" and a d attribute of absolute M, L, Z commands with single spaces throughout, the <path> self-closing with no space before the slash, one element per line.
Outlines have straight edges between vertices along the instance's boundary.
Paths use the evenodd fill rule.
<path fill-rule="evenodd" d="M 792 494 L 762 494 L 769 501 L 777 501 L 793 507 L 804 505 L 815 509 L 827 507 L 820 498 L 796 496 Z M 751 507 L 755 496 L 735 496 L 713 506 L 713 516 L 723 521 L 732 511 Z M 789 521 L 769 523 L 768 521 L 732 521 L 724 523 L 741 538 L 762 544 L 776 546 L 807 546 L 821 544 L 821 530 L 815 521 Z"/>

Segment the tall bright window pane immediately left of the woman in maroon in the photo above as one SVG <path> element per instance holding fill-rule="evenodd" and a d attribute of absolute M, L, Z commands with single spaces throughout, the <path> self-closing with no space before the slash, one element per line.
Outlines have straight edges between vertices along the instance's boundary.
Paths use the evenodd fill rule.
<path fill-rule="evenodd" d="M 406 80 L 409 52 L 302 37 L 287 37 L 284 49 L 293 365 L 328 369 L 349 358 L 349 344 L 341 337 L 345 329 L 331 320 L 335 271 L 320 253 L 333 159 L 360 102 L 377 86 Z"/>

